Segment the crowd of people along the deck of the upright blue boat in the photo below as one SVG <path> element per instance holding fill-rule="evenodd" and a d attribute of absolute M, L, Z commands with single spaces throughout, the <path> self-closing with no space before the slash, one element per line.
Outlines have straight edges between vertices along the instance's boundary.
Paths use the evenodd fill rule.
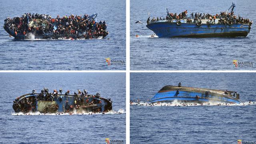
<path fill-rule="evenodd" d="M 180 14 L 177 13 L 168 13 L 166 15 L 166 18 L 152 18 L 150 20 L 150 17 L 148 17 L 147 20 L 147 24 L 149 24 L 150 22 L 155 22 L 158 20 L 185 20 L 188 23 L 192 23 L 192 19 L 194 19 L 194 22 L 198 22 L 200 20 L 206 19 L 208 20 L 208 24 L 252 24 L 252 21 L 249 20 L 249 18 L 243 18 L 240 15 L 236 16 L 234 14 L 234 12 L 230 12 L 230 13 L 226 13 L 226 12 L 220 12 L 220 14 L 215 14 L 215 15 L 211 15 L 211 14 L 205 14 L 205 13 L 198 13 L 196 12 L 195 14 L 192 13 L 190 14 L 190 16 L 188 15 L 188 11 L 185 10 L 184 12 L 181 12 Z M 216 21 L 216 19 L 219 19 L 218 22 Z"/>

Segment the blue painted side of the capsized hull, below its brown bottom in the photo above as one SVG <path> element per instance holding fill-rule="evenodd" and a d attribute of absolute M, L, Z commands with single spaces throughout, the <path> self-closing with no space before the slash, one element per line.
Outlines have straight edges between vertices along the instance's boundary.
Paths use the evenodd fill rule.
<path fill-rule="evenodd" d="M 198 97 L 196 97 L 198 96 Z M 177 95 L 176 90 L 168 91 L 168 92 L 158 92 L 149 102 L 150 103 L 168 103 L 173 102 L 174 100 L 181 102 L 220 102 L 220 103 L 241 103 L 239 100 L 232 98 L 230 96 L 220 96 L 220 95 L 212 95 L 205 96 L 204 93 L 200 92 L 188 92 L 188 91 L 180 91 Z"/>

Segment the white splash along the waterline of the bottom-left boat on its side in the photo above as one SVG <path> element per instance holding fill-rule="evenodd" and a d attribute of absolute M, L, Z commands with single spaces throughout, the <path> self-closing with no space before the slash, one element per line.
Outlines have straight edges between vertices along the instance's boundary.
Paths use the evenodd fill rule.
<path fill-rule="evenodd" d="M 110 110 L 109 112 L 104 112 L 104 113 L 94 113 L 94 112 L 70 112 L 70 113 L 65 113 L 65 112 L 57 112 L 57 113 L 41 113 L 41 112 L 28 112 L 28 113 L 23 113 L 23 112 L 18 112 L 18 113 L 11 113 L 12 116 L 36 116 L 36 115 L 91 115 L 91 114 L 125 114 L 125 110 L 119 109 L 118 111 L 115 110 Z"/>

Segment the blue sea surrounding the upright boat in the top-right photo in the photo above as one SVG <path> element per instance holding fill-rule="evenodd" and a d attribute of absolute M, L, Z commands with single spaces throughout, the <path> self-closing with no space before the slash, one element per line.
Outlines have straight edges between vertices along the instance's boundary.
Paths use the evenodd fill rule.
<path fill-rule="evenodd" d="M 254 0 L 234 2 L 237 14 L 255 22 Z M 232 62 L 256 63 L 255 23 L 246 38 L 150 38 L 154 32 L 146 27 L 148 16 L 163 18 L 166 8 L 177 14 L 185 10 L 189 14 L 219 14 L 228 10 L 231 4 L 232 0 L 130 0 L 130 69 L 255 70 L 255 66 L 235 68 Z M 143 25 L 135 24 L 138 20 Z"/>

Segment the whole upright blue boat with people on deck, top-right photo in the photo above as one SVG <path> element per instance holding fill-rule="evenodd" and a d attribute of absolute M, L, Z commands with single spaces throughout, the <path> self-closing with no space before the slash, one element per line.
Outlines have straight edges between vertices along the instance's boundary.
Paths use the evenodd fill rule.
<path fill-rule="evenodd" d="M 152 30 L 159 38 L 173 37 L 192 37 L 192 38 L 207 38 L 207 37 L 246 37 L 250 33 L 252 21 L 239 22 L 236 16 L 235 4 L 225 12 L 231 9 L 229 13 L 232 18 L 226 16 L 216 16 L 213 18 L 214 23 L 208 18 L 201 18 L 192 15 L 189 17 L 185 11 L 184 17 L 176 18 L 170 16 L 167 9 L 166 19 L 148 19 L 146 27 Z"/>

